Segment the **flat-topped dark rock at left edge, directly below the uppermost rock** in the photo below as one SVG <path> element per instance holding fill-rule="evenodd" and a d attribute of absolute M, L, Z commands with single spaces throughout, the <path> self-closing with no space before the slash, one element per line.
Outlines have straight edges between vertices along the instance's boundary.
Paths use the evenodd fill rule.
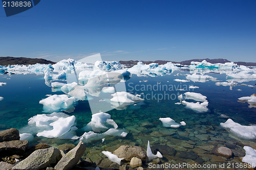
<path fill-rule="evenodd" d="M 0 155 L 22 155 L 28 149 L 27 140 L 12 140 L 0 143 Z"/>

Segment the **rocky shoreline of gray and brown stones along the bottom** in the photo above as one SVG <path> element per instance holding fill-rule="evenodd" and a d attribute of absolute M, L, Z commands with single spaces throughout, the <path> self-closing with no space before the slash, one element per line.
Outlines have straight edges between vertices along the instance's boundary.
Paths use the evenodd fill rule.
<path fill-rule="evenodd" d="M 182 160 L 190 160 L 190 165 L 204 164 L 200 152 L 179 151 L 179 160 L 175 159 L 177 150 L 168 145 L 155 144 L 151 147 L 153 154 L 160 152 L 163 157 L 148 161 L 148 153 L 141 147 L 135 145 L 116 144 L 105 150 L 110 150 L 122 158 L 118 163 L 115 158 L 106 157 L 103 152 L 97 152 L 94 148 L 86 148 L 80 141 L 76 146 L 72 143 L 58 145 L 57 148 L 51 147 L 46 143 L 29 146 L 27 140 L 19 140 L 17 129 L 8 129 L 0 132 L 0 169 L 1 170 L 22 170 L 22 169 L 173 169 L 172 167 L 161 167 L 160 165 L 181 164 Z M 121 142 L 122 143 L 122 142 Z M 123 143 L 125 144 L 125 142 Z M 126 143 L 127 144 L 127 143 Z M 130 143 L 132 144 L 132 143 Z M 189 144 L 187 144 L 189 147 Z M 193 145 L 191 143 L 190 145 Z M 230 145 L 231 149 L 232 146 Z M 94 151 L 95 150 L 95 151 Z M 244 154 L 239 154 L 223 146 L 208 146 L 201 148 L 212 152 L 211 158 L 216 162 L 236 162 L 240 161 Z M 240 159 L 239 159 L 240 158 Z M 231 160 L 233 159 L 233 160 Z M 242 163 L 242 162 L 241 162 Z M 189 169 L 189 168 L 175 168 Z M 193 168 L 190 168 L 193 169 Z M 220 168 L 217 168 L 220 169 Z M 236 168 L 234 168 L 236 169 Z M 252 169 L 252 168 L 248 168 Z"/>

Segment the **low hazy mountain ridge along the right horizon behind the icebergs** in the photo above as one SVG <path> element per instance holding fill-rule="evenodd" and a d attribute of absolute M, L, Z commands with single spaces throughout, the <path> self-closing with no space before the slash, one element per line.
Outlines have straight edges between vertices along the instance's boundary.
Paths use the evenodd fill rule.
<path fill-rule="evenodd" d="M 190 65 L 191 61 L 197 61 L 197 62 L 202 62 L 203 60 L 206 60 L 209 63 L 212 64 L 216 64 L 216 63 L 226 63 L 226 62 L 230 62 L 227 59 L 193 59 L 193 60 L 185 60 L 185 61 L 181 61 L 181 62 L 175 62 L 175 61 L 165 61 L 165 60 L 156 60 L 156 61 L 141 61 L 143 64 L 150 64 L 150 63 L 158 63 L 158 64 L 166 64 L 167 62 L 173 62 L 175 64 L 179 63 L 181 65 Z M 129 61 L 119 61 L 119 63 L 121 64 L 125 64 L 128 67 L 132 67 L 134 65 L 136 65 L 139 61 L 138 60 L 129 60 Z M 238 65 L 245 65 L 245 66 L 256 66 L 256 63 L 253 62 L 234 62 Z"/>

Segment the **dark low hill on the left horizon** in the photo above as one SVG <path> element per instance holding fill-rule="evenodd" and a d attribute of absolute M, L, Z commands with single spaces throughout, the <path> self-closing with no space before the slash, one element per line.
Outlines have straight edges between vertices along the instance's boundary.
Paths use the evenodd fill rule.
<path fill-rule="evenodd" d="M 55 64 L 53 61 L 39 58 L 25 58 L 25 57 L 0 57 L 0 65 L 12 65 L 12 64 Z"/>

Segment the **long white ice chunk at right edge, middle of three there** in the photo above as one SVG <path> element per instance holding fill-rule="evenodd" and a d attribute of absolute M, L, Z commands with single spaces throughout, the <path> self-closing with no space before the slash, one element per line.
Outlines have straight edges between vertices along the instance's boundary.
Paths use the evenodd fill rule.
<path fill-rule="evenodd" d="M 238 137 L 244 139 L 256 139 L 256 126 L 243 126 L 239 123 L 233 122 L 231 118 L 220 125 Z"/>

